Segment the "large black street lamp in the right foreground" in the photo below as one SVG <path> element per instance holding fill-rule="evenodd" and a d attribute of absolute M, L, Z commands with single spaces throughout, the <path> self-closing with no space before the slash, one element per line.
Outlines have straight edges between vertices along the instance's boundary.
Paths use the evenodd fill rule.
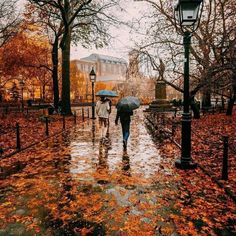
<path fill-rule="evenodd" d="M 197 29 L 201 18 L 203 0 L 178 0 L 175 6 L 175 21 L 183 34 L 184 44 L 184 110 L 182 114 L 181 158 L 175 166 L 181 169 L 194 169 L 196 163 L 191 158 L 191 113 L 189 112 L 189 48 L 192 33 Z M 200 14 L 199 14 L 200 13 Z M 177 27 L 177 25 L 176 25 Z"/>

